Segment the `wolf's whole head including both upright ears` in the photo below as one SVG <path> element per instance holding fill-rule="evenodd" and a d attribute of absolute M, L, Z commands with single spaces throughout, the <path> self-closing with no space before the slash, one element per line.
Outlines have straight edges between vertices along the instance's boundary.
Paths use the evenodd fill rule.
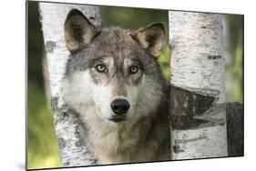
<path fill-rule="evenodd" d="M 70 106 L 114 122 L 156 113 L 165 84 L 157 63 L 165 39 L 162 24 L 137 31 L 98 29 L 73 9 L 65 38 L 70 57 L 63 95 Z"/>

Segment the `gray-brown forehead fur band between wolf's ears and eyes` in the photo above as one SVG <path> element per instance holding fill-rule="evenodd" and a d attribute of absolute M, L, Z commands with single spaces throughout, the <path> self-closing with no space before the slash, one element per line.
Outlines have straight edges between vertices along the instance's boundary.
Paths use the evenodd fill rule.
<path fill-rule="evenodd" d="M 159 74 L 159 64 L 149 57 L 130 34 L 134 31 L 121 27 L 103 28 L 92 44 L 84 46 L 79 52 L 70 55 L 67 61 L 66 75 L 92 67 L 98 58 L 112 56 L 116 58 L 115 65 L 120 65 L 124 58 L 134 58 L 143 66 L 148 75 Z M 89 56 L 89 57 L 86 57 Z"/>

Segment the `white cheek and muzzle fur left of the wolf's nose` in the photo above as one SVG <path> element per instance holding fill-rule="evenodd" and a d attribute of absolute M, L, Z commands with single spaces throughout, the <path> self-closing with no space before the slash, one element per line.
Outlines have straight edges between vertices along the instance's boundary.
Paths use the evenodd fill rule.
<path fill-rule="evenodd" d="M 89 70 L 77 72 L 64 79 L 62 93 L 67 104 L 81 115 L 87 113 L 88 106 L 95 106 L 99 117 L 109 118 L 111 92 L 104 85 L 96 85 Z"/>

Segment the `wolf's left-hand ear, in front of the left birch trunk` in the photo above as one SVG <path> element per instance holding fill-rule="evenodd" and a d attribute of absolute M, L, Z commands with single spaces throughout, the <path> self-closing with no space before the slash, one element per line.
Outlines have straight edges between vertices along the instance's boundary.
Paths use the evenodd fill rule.
<path fill-rule="evenodd" d="M 89 44 L 97 35 L 96 27 L 77 9 L 72 9 L 68 13 L 64 30 L 67 49 L 70 53 Z"/>

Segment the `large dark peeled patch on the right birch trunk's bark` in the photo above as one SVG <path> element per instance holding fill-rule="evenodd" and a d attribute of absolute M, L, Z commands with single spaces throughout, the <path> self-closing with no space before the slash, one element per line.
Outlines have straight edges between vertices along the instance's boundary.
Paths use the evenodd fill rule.
<path fill-rule="evenodd" d="M 208 122 L 194 116 L 204 114 L 214 105 L 217 96 L 199 94 L 188 89 L 170 85 L 170 120 L 174 129 L 189 129 Z M 203 91 L 201 91 L 203 92 Z M 207 90 L 206 90 L 207 92 Z"/>

